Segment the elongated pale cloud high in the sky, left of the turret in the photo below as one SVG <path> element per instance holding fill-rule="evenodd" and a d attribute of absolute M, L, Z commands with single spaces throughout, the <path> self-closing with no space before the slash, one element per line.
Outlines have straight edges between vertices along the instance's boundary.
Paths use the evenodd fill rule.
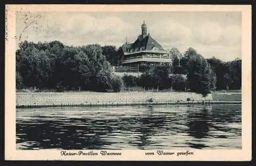
<path fill-rule="evenodd" d="M 116 39 L 122 32 L 132 31 L 133 26 L 114 16 L 96 19 L 86 14 L 55 14 L 48 18 L 48 29 L 59 29 L 59 35 L 92 39 Z M 56 32 L 55 32 L 56 33 Z"/>

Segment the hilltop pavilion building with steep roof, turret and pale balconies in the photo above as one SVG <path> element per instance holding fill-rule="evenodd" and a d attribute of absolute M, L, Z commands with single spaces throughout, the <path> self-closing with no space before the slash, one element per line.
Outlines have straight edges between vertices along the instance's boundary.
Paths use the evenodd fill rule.
<path fill-rule="evenodd" d="M 137 65 L 172 65 L 168 52 L 146 32 L 145 21 L 141 25 L 141 35 L 134 43 L 122 45 L 124 57 L 123 66 L 135 67 Z"/>

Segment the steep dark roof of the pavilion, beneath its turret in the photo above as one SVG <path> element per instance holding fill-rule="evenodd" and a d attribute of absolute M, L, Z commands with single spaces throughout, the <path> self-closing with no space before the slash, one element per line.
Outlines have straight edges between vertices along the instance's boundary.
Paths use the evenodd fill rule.
<path fill-rule="evenodd" d="M 151 37 L 151 35 L 146 35 L 142 40 L 142 35 L 133 43 L 133 44 L 123 44 L 122 48 L 131 49 L 131 51 L 140 51 L 140 50 L 152 50 L 153 47 L 157 47 L 160 51 L 165 51 L 163 47 Z"/>

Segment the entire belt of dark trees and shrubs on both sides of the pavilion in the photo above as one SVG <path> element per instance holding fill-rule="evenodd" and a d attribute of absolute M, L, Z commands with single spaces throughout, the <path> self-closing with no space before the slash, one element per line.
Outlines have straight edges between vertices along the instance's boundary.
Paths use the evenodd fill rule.
<path fill-rule="evenodd" d="M 113 73 L 123 52 L 115 46 L 66 46 L 59 41 L 28 42 L 16 50 L 16 89 L 119 92 L 125 87 L 175 89 L 207 95 L 212 90 L 241 88 L 241 60 L 205 59 L 195 49 L 169 50 L 172 66 L 140 66 L 139 77 Z"/>

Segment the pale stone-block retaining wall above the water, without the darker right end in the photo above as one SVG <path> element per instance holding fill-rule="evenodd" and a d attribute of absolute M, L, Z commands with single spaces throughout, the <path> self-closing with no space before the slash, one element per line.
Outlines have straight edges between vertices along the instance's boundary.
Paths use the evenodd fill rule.
<path fill-rule="evenodd" d="M 101 105 L 101 104 L 133 104 L 147 102 L 177 102 L 212 100 L 212 95 L 202 97 L 196 93 L 164 92 L 164 93 L 16 93 L 16 106 L 37 105 Z"/>

